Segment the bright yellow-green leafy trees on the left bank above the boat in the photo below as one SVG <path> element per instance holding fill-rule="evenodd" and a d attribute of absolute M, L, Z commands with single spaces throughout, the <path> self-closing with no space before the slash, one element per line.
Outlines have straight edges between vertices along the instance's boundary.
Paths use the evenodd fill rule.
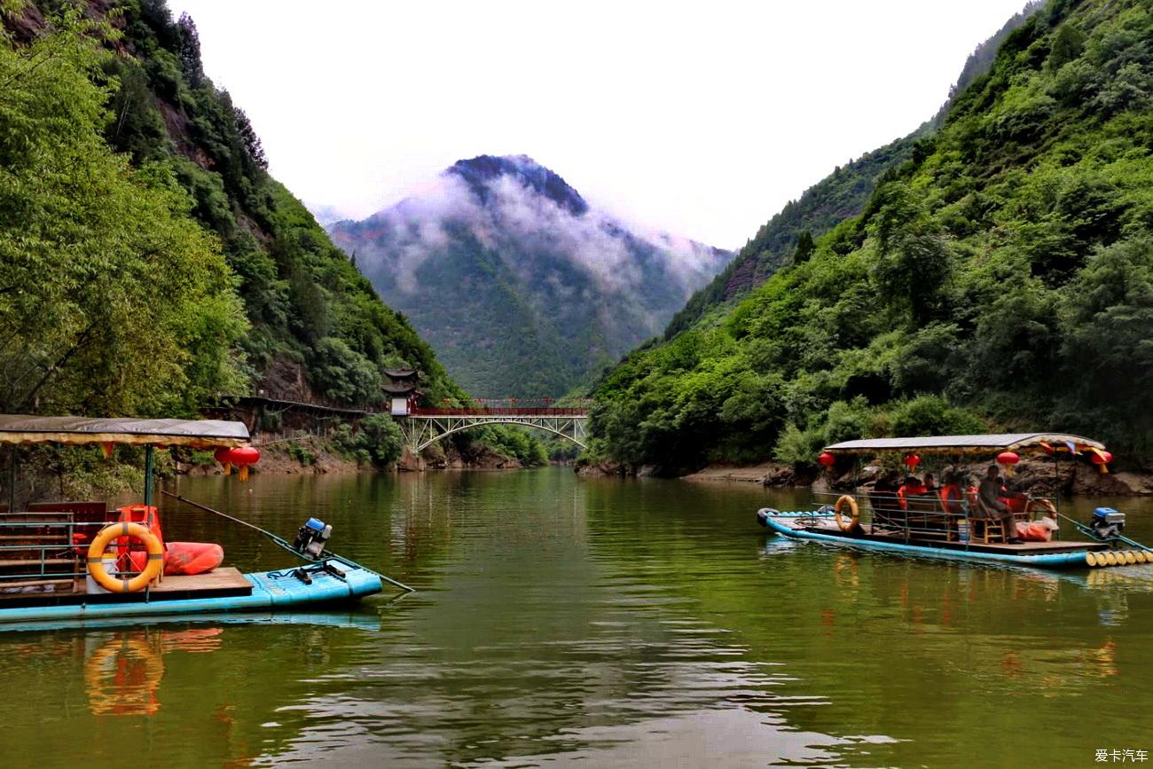
<path fill-rule="evenodd" d="M 172 168 L 101 136 L 106 25 L 0 39 L 0 412 L 188 414 L 243 383 L 242 307 Z"/>

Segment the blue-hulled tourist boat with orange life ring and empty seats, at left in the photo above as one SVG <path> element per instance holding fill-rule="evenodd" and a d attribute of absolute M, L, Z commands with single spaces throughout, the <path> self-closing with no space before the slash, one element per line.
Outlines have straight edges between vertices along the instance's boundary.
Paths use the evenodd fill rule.
<path fill-rule="evenodd" d="M 242 422 L 0 415 L 0 444 L 9 453 L 8 504 L 0 505 L 0 628 L 12 623 L 296 611 L 380 593 L 384 582 L 412 589 L 327 550 L 332 528 L 315 519 L 289 543 L 168 495 L 256 529 L 303 565 L 242 574 L 217 565 L 219 545 L 165 543 L 153 505 L 156 447 L 216 450 L 218 460 L 250 463 L 259 453 L 249 446 Z M 35 444 L 95 445 L 106 455 L 118 444 L 144 446 L 143 504 L 111 508 L 100 502 L 52 502 L 17 510 L 16 447 Z"/>

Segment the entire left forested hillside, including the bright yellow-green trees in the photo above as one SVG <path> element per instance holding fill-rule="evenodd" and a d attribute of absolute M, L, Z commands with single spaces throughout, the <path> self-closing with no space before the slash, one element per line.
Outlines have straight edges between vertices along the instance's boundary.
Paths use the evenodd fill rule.
<path fill-rule="evenodd" d="M 265 171 L 163 0 L 6 0 L 0 410 L 195 414 L 259 385 L 379 398 L 431 348 Z"/>

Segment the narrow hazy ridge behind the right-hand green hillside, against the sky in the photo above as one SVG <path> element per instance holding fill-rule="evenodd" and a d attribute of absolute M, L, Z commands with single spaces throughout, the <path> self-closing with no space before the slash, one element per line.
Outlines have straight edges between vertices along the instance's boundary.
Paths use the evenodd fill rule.
<path fill-rule="evenodd" d="M 760 286 L 796 256 L 806 258 L 811 252 L 813 238 L 864 211 L 877 181 L 913 157 L 918 140 L 940 128 L 956 95 L 988 71 L 1001 43 L 1041 6 L 1040 0 L 1031 0 L 989 39 L 977 46 L 965 61 L 957 83 L 950 89 L 948 101 L 933 119 L 909 136 L 866 152 L 844 166 L 837 166 L 831 174 L 805 190 L 799 199 L 785 204 L 779 213 L 756 231 L 756 235 L 740 249 L 737 257 L 711 282 L 694 293 L 672 317 L 664 331 L 664 339 L 672 339 L 717 306 L 731 304 Z"/>

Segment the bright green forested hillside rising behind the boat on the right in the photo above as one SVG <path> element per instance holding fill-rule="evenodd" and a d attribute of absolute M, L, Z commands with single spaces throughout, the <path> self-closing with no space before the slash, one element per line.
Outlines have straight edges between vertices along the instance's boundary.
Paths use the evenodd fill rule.
<path fill-rule="evenodd" d="M 864 436 L 1060 428 L 1153 454 L 1153 18 L 1055 0 L 860 216 L 596 390 L 595 451 L 678 472 Z"/>

